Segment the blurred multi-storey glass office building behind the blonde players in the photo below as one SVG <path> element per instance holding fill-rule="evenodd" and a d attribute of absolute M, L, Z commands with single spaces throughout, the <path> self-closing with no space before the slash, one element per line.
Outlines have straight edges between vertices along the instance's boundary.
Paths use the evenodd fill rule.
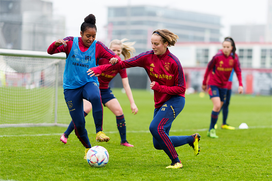
<path fill-rule="evenodd" d="M 219 42 L 220 16 L 152 6 L 108 7 L 108 41 L 127 38 L 135 41 L 136 52 L 151 50 L 154 30 L 168 29 L 179 36 L 177 42 Z M 143 68 L 127 69 L 132 88 L 149 87 Z M 112 86 L 122 87 L 120 77 Z"/>

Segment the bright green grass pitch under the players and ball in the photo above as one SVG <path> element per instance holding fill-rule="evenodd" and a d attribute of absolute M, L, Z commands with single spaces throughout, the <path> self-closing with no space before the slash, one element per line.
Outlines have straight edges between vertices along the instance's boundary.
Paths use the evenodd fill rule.
<path fill-rule="evenodd" d="M 103 129 L 111 138 L 108 143 L 95 142 L 92 114 L 86 117 L 92 146 L 101 145 L 109 152 L 105 167 L 93 168 L 83 160 L 85 149 L 74 133 L 67 144 L 61 143 L 60 134 L 66 128 L 1 128 L 0 180 L 272 180 L 271 96 L 233 95 L 227 122 L 235 127 L 245 122 L 249 129 L 218 129 L 219 139 L 212 139 L 205 130 L 212 111 L 209 97 L 186 95 L 185 107 L 173 122 L 170 135 L 191 135 L 197 130 L 202 136 L 201 151 L 194 156 L 188 144 L 176 148 L 183 168 L 166 169 L 171 161 L 153 147 L 148 132 L 154 111 L 153 94 L 132 91 L 139 108 L 136 115 L 131 113 L 126 94 L 113 90 L 123 108 L 127 139 L 133 148 L 120 146 L 115 116 L 106 107 Z"/>

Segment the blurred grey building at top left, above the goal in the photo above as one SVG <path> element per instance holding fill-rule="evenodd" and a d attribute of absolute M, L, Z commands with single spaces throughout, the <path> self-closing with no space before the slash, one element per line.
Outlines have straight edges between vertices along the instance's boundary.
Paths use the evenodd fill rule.
<path fill-rule="evenodd" d="M 52 2 L 0 0 L 0 48 L 47 51 L 65 35 L 64 17 L 52 13 Z"/>

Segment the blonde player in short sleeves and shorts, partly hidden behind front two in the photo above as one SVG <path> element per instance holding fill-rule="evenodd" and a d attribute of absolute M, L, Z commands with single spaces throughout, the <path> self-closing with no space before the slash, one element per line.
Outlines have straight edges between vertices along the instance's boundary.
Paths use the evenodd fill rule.
<path fill-rule="evenodd" d="M 121 54 L 125 57 L 125 59 L 129 59 L 133 52 L 135 51 L 134 45 L 135 42 L 124 42 L 127 39 L 123 40 L 112 40 L 109 46 L 109 49 L 111 49 L 113 52 L 115 52 L 116 55 L 120 56 Z M 108 59 L 100 59 L 99 65 L 109 64 Z M 117 71 L 108 71 L 103 73 L 101 76 L 98 77 L 99 81 L 99 90 L 101 94 L 101 100 L 104 106 L 107 106 L 112 113 L 116 116 L 116 123 L 117 128 L 121 137 L 121 145 L 133 147 L 132 144 L 129 144 L 126 138 L 126 122 L 124 118 L 123 110 L 120 106 L 120 103 L 115 98 L 115 96 L 112 94 L 112 90 L 108 86 L 109 82 L 117 75 L 120 74 L 122 78 L 123 87 L 126 91 L 126 94 L 128 96 L 128 99 L 130 101 L 130 108 L 132 110 L 131 113 L 137 114 L 138 108 L 134 102 L 131 88 L 128 83 L 128 75 L 126 72 L 126 69 L 121 69 Z M 92 110 L 92 104 L 83 99 L 83 107 L 84 107 L 84 116 L 87 116 L 88 113 Z M 74 124 L 73 120 L 71 121 L 70 125 L 68 126 L 67 130 L 63 133 L 63 135 L 60 136 L 60 141 L 62 141 L 64 144 L 67 143 L 67 138 L 70 135 L 70 133 L 74 130 Z"/>

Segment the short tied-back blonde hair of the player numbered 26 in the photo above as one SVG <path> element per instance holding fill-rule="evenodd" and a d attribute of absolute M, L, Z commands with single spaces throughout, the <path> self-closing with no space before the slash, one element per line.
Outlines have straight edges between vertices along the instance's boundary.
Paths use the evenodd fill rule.
<path fill-rule="evenodd" d="M 176 39 L 179 39 L 179 36 L 177 36 L 176 34 L 172 33 L 171 31 L 167 30 L 167 29 L 159 29 L 159 30 L 155 30 L 153 34 L 157 34 L 158 36 L 161 37 L 161 41 L 162 43 L 166 43 L 168 42 L 168 46 L 175 46 L 176 43 Z"/>

